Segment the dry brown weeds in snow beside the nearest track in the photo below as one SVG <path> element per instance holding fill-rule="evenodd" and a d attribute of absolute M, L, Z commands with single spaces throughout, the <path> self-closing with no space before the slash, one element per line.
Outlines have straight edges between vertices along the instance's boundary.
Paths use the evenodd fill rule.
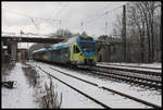
<path fill-rule="evenodd" d="M 59 93 L 57 90 L 57 86 L 54 86 L 51 77 L 49 83 L 40 83 L 39 82 L 39 74 L 36 72 L 35 68 L 27 65 L 26 63 L 23 62 L 25 66 L 23 66 L 23 71 L 25 75 L 28 78 L 29 86 L 36 88 L 36 100 L 39 102 L 40 108 L 54 108 L 59 109 L 62 103 L 62 93 L 59 97 Z M 49 85 L 49 86 L 48 86 Z"/>

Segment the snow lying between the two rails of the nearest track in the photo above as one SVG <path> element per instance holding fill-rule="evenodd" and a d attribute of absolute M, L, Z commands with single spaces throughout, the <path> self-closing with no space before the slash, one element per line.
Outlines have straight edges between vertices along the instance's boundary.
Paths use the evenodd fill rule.
<path fill-rule="evenodd" d="M 84 93 L 87 93 L 89 96 L 104 102 L 105 105 L 108 105 L 110 107 L 113 107 L 113 108 L 148 108 L 145 105 L 133 101 L 130 99 L 125 99 L 124 97 L 121 97 L 118 95 L 114 96 L 114 95 L 112 95 L 112 93 L 105 91 L 103 89 L 99 89 L 98 87 L 87 84 L 85 82 L 82 82 L 82 81 L 78 81 L 78 80 L 75 80 L 72 77 L 67 77 L 67 76 L 61 74 L 60 72 L 49 69 L 48 66 L 45 66 L 45 65 L 40 65 L 40 66 L 43 68 L 45 71 L 50 72 L 51 74 L 57 76 L 58 78 L 66 82 L 70 85 L 73 85 L 73 87 L 78 88 Z M 72 100 L 72 99 L 70 98 L 70 100 Z M 123 102 L 123 105 L 122 105 L 122 102 Z M 74 101 L 73 101 L 73 105 L 76 105 L 76 103 L 74 103 Z"/>

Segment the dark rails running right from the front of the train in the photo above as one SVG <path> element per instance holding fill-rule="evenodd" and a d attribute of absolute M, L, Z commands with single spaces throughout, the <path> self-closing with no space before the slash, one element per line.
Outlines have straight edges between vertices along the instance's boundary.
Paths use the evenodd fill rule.
<path fill-rule="evenodd" d="M 92 74 L 99 74 L 118 81 L 125 81 L 154 89 L 162 89 L 162 74 L 140 70 L 128 70 L 108 66 L 89 66 L 86 70 Z"/>

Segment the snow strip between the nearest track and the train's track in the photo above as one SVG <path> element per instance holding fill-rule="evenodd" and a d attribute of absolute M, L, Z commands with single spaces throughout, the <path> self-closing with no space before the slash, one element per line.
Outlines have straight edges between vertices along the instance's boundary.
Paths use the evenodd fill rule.
<path fill-rule="evenodd" d="M 62 69 L 60 66 L 53 66 L 53 65 L 49 65 L 49 64 L 45 64 L 45 63 L 37 63 L 37 64 L 43 65 L 43 66 L 46 66 L 46 65 L 52 66 L 54 69 L 62 70 L 63 72 L 66 72 L 66 73 L 68 72 L 68 74 L 82 77 L 82 78 L 90 81 L 90 82 L 95 82 L 99 86 L 105 86 L 109 88 L 113 88 L 115 90 L 126 93 L 130 96 L 138 97 L 142 100 L 147 100 L 149 102 L 162 106 L 162 93 L 156 91 L 156 90 L 140 88 L 135 85 L 128 85 L 126 83 L 118 83 L 118 82 L 112 82 L 110 80 L 98 78 L 97 76 L 93 76 L 93 75 L 82 74 L 79 72 L 71 71 L 67 69 Z"/>

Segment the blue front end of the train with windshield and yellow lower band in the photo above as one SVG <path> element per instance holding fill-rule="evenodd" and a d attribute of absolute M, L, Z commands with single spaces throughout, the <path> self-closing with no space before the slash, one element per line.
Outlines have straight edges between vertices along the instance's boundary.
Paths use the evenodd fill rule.
<path fill-rule="evenodd" d="M 96 65 L 96 40 L 92 37 L 79 37 L 77 38 L 77 44 L 83 56 L 83 60 L 79 61 L 79 64 Z"/>

